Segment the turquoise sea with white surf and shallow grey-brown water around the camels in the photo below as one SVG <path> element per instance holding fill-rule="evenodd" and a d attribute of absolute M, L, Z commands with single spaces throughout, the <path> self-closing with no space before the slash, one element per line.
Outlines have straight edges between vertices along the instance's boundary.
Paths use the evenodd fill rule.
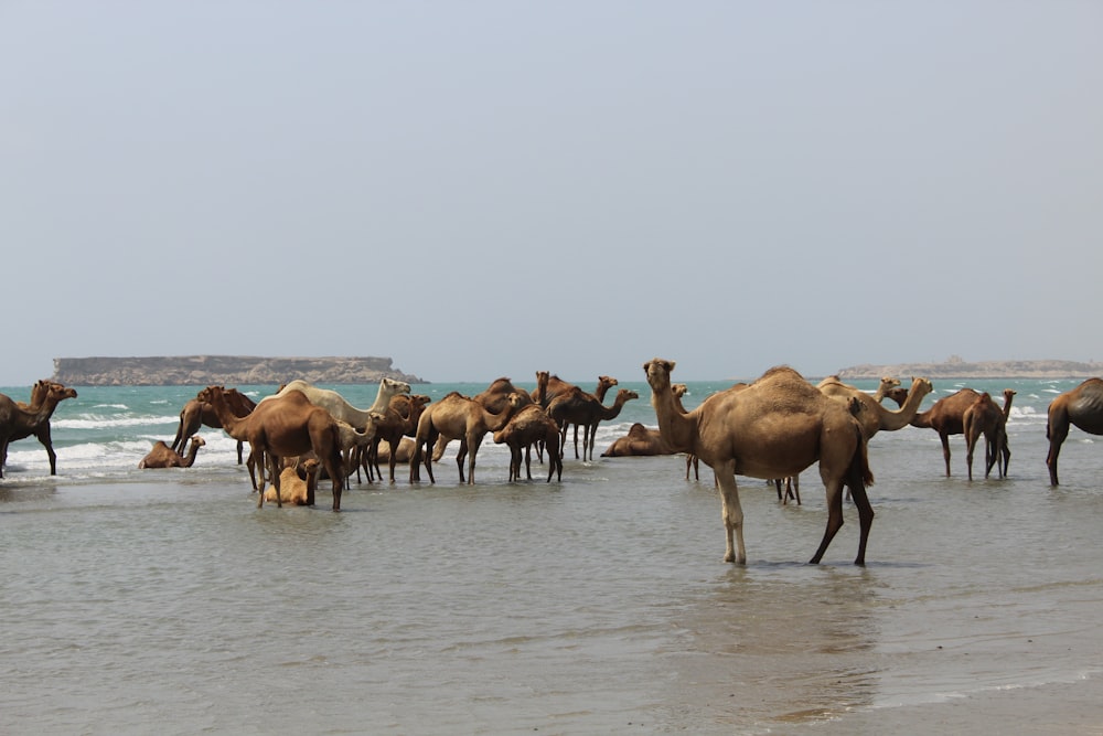
<path fill-rule="evenodd" d="M 640 398 L 596 455 L 655 426 L 629 377 Z M 258 510 L 222 430 L 192 468 L 138 469 L 197 387 L 77 387 L 52 422 L 57 476 L 29 438 L 0 480 L 0 733 L 1103 733 L 1103 450 L 1073 428 L 1061 486 L 1045 463 L 1047 406 L 1079 383 L 935 381 L 924 409 L 1018 392 L 1009 477 L 984 479 L 978 452 L 966 480 L 961 436 L 946 478 L 933 430 L 878 434 L 865 567 L 850 502 L 806 564 L 814 469 L 801 505 L 739 479 L 737 566 L 711 473 L 687 480 L 682 456 L 587 462 L 568 441 L 561 482 L 507 482 L 488 437 L 475 486 L 453 442 L 436 484 L 400 466 L 354 480 L 340 513 L 328 481 L 315 508 Z"/>

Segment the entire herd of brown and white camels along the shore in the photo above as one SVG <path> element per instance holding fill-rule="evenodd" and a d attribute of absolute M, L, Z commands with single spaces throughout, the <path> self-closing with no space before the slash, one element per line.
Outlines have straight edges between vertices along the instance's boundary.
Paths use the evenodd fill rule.
<path fill-rule="evenodd" d="M 801 472 L 817 465 L 826 492 L 827 525 L 811 562 L 821 561 L 843 525 L 846 489 L 858 510 L 855 564 L 861 565 L 874 520 L 866 492 L 874 480 L 867 442 L 878 431 L 906 426 L 934 429 L 942 442 L 946 476 L 949 438 L 964 435 L 970 480 L 974 451 L 983 437 L 985 477 L 993 468 L 999 477 L 1008 470 L 1006 425 L 1015 396 L 1011 390 L 1004 391 L 1003 406 L 987 393 L 962 388 L 920 412 L 923 398 L 933 390 L 927 378 L 914 378 L 904 390 L 899 381 L 886 377 L 870 395 L 837 376 L 812 385 L 792 369 L 779 366 L 750 384 L 717 392 L 687 412 L 681 401 L 685 385 L 671 382 L 674 365 L 673 361 L 657 358 L 643 365 L 658 428 L 632 425 L 602 457 L 683 452 L 687 479 L 690 467 L 696 468 L 698 461 L 710 467 L 721 500 L 726 562 L 747 559 L 737 476 L 775 481 L 781 499 L 782 480 L 792 488 Z M 561 479 L 571 426 L 575 457 L 592 459 L 598 425 L 615 418 L 627 402 L 639 398 L 635 392 L 621 388 L 611 404 L 604 404 L 607 393 L 617 385 L 615 378 L 599 376 L 595 392 L 588 393 L 538 371 L 532 392 L 517 388 L 508 378 L 499 378 L 475 396 L 452 392 L 430 402 L 428 396 L 411 395 L 407 383 L 383 378 L 375 402 L 366 409 L 352 406 L 335 391 L 304 381 L 286 384 L 258 403 L 234 388 L 207 386 L 182 408 L 172 442 L 154 442 L 139 468 L 189 468 L 205 444 L 196 430 L 203 425 L 221 428 L 238 441 L 238 462 L 248 465 L 258 506 L 266 500 L 277 505 L 313 505 L 317 481 L 329 478 L 333 510 L 338 511 L 352 473 L 358 478 L 363 471 L 368 482 L 382 479 L 381 461 L 389 465 L 392 483 L 398 462 L 409 465 L 411 483 L 420 480 L 422 467 L 429 481 L 435 482 L 432 463 L 453 439 L 460 442 L 456 457 L 460 482 L 474 483 L 479 448 L 486 435 L 492 435 L 495 444 L 510 449 L 510 481 L 521 480 L 522 459 L 526 478 L 532 480 L 535 448 L 540 462 L 547 454 L 549 482 L 553 477 Z M 38 382 L 26 404 L 0 394 L 0 478 L 9 444 L 31 436 L 45 447 L 50 472 L 56 474 L 50 418 L 58 403 L 76 395 L 75 390 L 52 381 Z M 895 401 L 899 408 L 885 408 L 885 398 Z M 1046 463 L 1052 486 L 1058 484 L 1057 460 L 1070 426 L 1103 435 L 1103 380 L 1089 378 L 1057 396 L 1049 406 Z M 245 442 L 250 448 L 247 460 L 242 457 Z M 271 488 L 266 489 L 269 480 Z"/>

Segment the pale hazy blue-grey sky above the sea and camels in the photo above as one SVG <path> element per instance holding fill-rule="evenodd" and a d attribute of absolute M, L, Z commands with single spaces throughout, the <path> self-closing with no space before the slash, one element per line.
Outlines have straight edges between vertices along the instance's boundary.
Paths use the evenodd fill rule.
<path fill-rule="evenodd" d="M 0 385 L 1103 360 L 1103 2 L 0 0 Z"/>

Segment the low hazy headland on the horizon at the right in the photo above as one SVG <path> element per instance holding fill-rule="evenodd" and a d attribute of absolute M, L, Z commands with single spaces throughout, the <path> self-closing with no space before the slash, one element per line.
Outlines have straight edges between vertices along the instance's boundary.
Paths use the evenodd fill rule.
<path fill-rule="evenodd" d="M 900 363 L 897 365 L 854 365 L 837 373 L 850 381 L 874 380 L 885 375 L 924 378 L 1090 378 L 1103 375 L 1103 363 L 1094 361 L 978 361 L 970 363 L 951 355 L 943 363 Z"/>

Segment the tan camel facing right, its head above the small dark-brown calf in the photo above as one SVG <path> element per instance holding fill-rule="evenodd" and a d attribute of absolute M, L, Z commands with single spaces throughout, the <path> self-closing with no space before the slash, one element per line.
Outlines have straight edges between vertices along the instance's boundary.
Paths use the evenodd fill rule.
<path fill-rule="evenodd" d="M 521 408 L 520 394 L 511 394 L 508 405 L 499 414 L 492 414 L 479 402 L 452 392 L 435 404 L 430 404 L 421 413 L 417 423 L 417 435 L 414 438 L 414 457 L 410 458 L 410 482 L 420 480 L 418 466 L 421 454 L 425 452 L 425 467 L 429 472 L 429 482 L 437 482 L 432 477 L 432 456 L 430 448 L 438 437 L 460 440 L 460 450 L 456 455 L 456 465 L 460 471 L 460 482 L 463 478 L 463 460 L 468 458 L 469 486 L 475 482 L 475 455 L 488 431 L 497 431 L 506 425 Z"/>

